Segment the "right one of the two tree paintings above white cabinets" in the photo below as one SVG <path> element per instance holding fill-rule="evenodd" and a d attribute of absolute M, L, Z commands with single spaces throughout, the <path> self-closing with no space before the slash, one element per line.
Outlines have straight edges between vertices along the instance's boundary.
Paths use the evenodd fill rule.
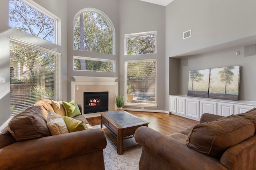
<path fill-rule="evenodd" d="M 238 100 L 240 66 L 210 70 L 209 98 Z"/>

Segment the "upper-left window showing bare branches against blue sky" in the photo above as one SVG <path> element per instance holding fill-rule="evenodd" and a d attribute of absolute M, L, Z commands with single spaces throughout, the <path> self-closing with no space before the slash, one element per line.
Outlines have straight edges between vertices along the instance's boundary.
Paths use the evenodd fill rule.
<path fill-rule="evenodd" d="M 56 41 L 56 20 L 22 0 L 9 0 L 9 25 L 52 43 Z"/>

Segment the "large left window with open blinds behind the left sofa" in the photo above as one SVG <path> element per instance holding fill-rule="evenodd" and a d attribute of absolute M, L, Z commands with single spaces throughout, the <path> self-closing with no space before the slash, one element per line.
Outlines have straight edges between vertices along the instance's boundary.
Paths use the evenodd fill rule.
<path fill-rule="evenodd" d="M 10 40 L 10 109 L 16 115 L 38 100 L 60 96 L 60 53 Z"/>

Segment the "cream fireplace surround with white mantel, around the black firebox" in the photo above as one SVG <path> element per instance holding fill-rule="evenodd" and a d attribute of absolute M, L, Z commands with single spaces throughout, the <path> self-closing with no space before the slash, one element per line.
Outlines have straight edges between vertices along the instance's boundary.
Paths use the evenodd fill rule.
<path fill-rule="evenodd" d="M 116 110 L 115 96 L 118 93 L 116 77 L 73 76 L 71 82 L 71 100 L 82 105 L 84 113 L 84 92 L 108 92 L 108 111 Z"/>

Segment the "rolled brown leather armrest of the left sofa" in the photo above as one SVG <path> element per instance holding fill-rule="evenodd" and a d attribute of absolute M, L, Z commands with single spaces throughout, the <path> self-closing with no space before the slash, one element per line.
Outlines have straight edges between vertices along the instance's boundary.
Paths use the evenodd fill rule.
<path fill-rule="evenodd" d="M 22 141 L 0 149 L 1 169 L 29 169 L 103 150 L 103 129 L 90 129 Z"/>

